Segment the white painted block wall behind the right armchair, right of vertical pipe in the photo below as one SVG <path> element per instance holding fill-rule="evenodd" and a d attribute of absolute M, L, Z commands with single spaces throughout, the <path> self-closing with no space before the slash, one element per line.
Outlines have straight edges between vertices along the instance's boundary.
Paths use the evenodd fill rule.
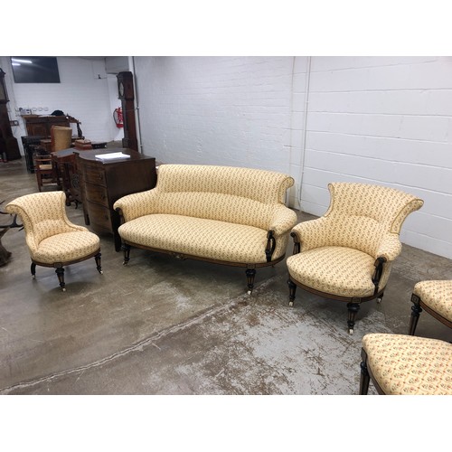
<path fill-rule="evenodd" d="M 314 57 L 301 207 L 326 184 L 384 184 L 425 201 L 403 242 L 452 258 L 452 58 Z"/>

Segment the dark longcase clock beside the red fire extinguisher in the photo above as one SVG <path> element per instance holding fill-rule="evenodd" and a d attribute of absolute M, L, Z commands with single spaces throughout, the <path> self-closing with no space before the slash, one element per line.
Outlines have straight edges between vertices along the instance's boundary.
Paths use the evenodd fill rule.
<path fill-rule="evenodd" d="M 124 120 L 124 138 L 122 146 L 138 150 L 137 124 L 135 120 L 134 75 L 130 71 L 119 72 L 118 98 L 121 99 Z"/>

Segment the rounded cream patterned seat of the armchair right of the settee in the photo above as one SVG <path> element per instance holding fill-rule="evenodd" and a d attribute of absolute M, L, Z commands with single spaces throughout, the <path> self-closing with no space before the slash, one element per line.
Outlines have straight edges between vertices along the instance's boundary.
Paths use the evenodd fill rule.
<path fill-rule="evenodd" d="M 291 278 L 339 297 L 370 297 L 375 259 L 360 250 L 322 247 L 287 258 Z"/>

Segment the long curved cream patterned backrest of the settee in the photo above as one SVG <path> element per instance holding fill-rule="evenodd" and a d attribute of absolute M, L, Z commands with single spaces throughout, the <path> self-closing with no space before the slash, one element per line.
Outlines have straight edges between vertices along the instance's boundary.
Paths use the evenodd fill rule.
<path fill-rule="evenodd" d="M 284 204 L 292 177 L 273 171 L 217 165 L 160 165 L 155 210 L 268 228 Z"/>

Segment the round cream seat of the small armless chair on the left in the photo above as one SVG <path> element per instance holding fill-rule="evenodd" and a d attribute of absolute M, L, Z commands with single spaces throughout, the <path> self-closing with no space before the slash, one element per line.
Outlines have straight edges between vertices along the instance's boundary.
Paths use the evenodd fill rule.
<path fill-rule="evenodd" d="M 89 231 L 64 232 L 42 240 L 32 259 L 42 264 L 70 262 L 89 256 L 100 248 L 100 240 Z"/>

